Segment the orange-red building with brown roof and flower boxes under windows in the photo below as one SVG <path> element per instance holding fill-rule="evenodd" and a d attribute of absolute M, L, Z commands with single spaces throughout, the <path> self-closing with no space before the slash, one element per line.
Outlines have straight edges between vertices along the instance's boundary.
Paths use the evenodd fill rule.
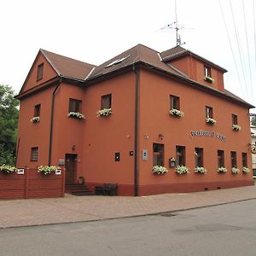
<path fill-rule="evenodd" d="M 20 100 L 17 166 L 66 167 L 66 184 L 118 195 L 252 185 L 249 108 L 226 70 L 142 44 L 100 66 L 40 49 Z"/>

